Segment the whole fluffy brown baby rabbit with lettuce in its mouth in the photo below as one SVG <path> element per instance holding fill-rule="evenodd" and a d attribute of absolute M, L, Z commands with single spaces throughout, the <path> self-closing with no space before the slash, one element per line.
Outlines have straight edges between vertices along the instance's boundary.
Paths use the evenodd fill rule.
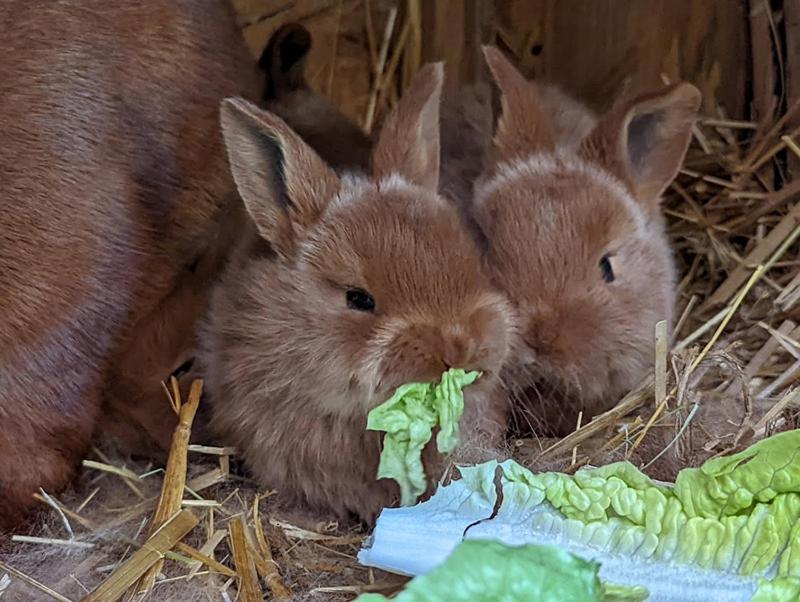
<path fill-rule="evenodd" d="M 370 177 L 337 175 L 249 103 L 222 110 L 254 227 L 200 335 L 211 426 L 265 486 L 342 517 L 371 521 L 397 497 L 394 482 L 376 480 L 381 438 L 365 427 L 399 385 L 451 366 L 481 370 L 462 433 L 504 431 L 489 415 L 505 409 L 496 385 L 512 317 L 458 212 L 436 194 L 442 73 L 437 64 L 416 75 L 381 130 Z"/>

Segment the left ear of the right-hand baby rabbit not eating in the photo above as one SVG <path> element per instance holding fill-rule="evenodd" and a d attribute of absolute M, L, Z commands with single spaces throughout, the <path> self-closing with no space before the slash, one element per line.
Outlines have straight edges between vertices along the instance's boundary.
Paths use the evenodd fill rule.
<path fill-rule="evenodd" d="M 535 83 L 525 79 L 494 46 L 484 46 L 483 56 L 500 89 L 502 113 L 494 146 L 499 159 L 513 159 L 555 147 L 555 135 L 542 109 Z"/>

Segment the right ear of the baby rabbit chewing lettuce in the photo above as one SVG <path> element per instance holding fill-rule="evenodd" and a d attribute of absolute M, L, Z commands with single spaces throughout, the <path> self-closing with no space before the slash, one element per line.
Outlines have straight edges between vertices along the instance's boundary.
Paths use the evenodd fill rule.
<path fill-rule="evenodd" d="M 428 190 L 439 184 L 439 103 L 443 63 L 431 63 L 411 80 L 386 118 L 372 153 L 376 178 L 398 173 Z"/>

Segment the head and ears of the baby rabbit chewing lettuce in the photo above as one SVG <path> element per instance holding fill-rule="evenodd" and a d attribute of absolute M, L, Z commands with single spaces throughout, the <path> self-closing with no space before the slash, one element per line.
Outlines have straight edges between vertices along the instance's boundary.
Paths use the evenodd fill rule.
<path fill-rule="evenodd" d="M 441 80 L 441 65 L 419 73 L 382 129 L 372 178 L 337 176 L 244 101 L 223 108 L 234 178 L 275 255 L 251 261 L 239 301 L 254 303 L 256 332 L 296 346 L 284 376 L 307 365 L 317 376 L 303 380 L 320 381 L 314 397 L 331 409 L 382 401 L 450 366 L 496 372 L 504 357 L 503 300 L 436 194 Z"/>

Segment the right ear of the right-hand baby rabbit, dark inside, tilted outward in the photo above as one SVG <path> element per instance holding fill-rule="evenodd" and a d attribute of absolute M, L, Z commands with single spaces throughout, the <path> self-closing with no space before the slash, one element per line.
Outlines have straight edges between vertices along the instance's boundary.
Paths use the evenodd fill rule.
<path fill-rule="evenodd" d="M 680 83 L 618 102 L 579 152 L 627 182 L 637 199 L 657 205 L 686 154 L 700 100 L 697 88 Z"/>

